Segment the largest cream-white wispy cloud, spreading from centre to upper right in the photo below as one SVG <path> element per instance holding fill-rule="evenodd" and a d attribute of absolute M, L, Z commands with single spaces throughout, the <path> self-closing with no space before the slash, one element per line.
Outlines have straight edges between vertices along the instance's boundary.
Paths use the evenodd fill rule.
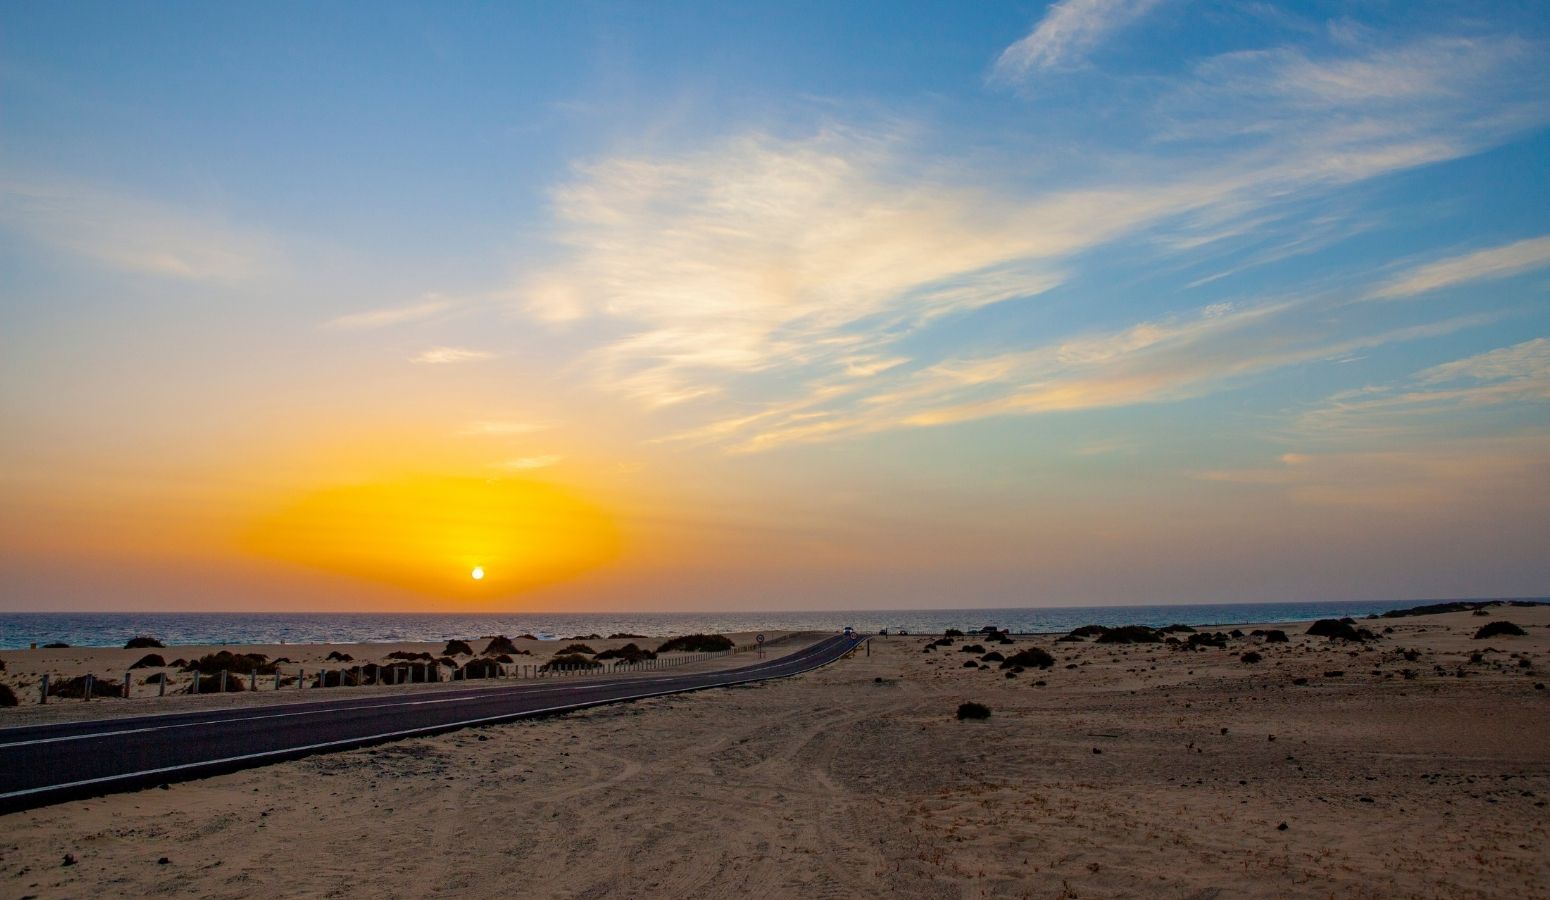
<path fill-rule="evenodd" d="M 1406 85 L 1438 46 L 1462 74 Z M 1372 330 L 1328 304 L 1243 302 L 1011 353 L 941 336 L 1144 231 L 1189 254 L 1333 187 L 1500 143 L 1545 118 L 1536 96 L 1504 87 L 1530 51 L 1477 37 L 1231 54 L 1158 113 L 1162 136 L 1211 153 L 1097 158 L 1079 186 L 941 164 L 908 133 L 845 127 L 595 161 L 553 192 L 561 254 L 527 282 L 525 308 L 617 335 L 583 359 L 600 387 L 648 407 L 698 401 L 708 415 L 673 438 L 736 451 L 1198 397 L 1448 333 L 1483 319 Z"/>

